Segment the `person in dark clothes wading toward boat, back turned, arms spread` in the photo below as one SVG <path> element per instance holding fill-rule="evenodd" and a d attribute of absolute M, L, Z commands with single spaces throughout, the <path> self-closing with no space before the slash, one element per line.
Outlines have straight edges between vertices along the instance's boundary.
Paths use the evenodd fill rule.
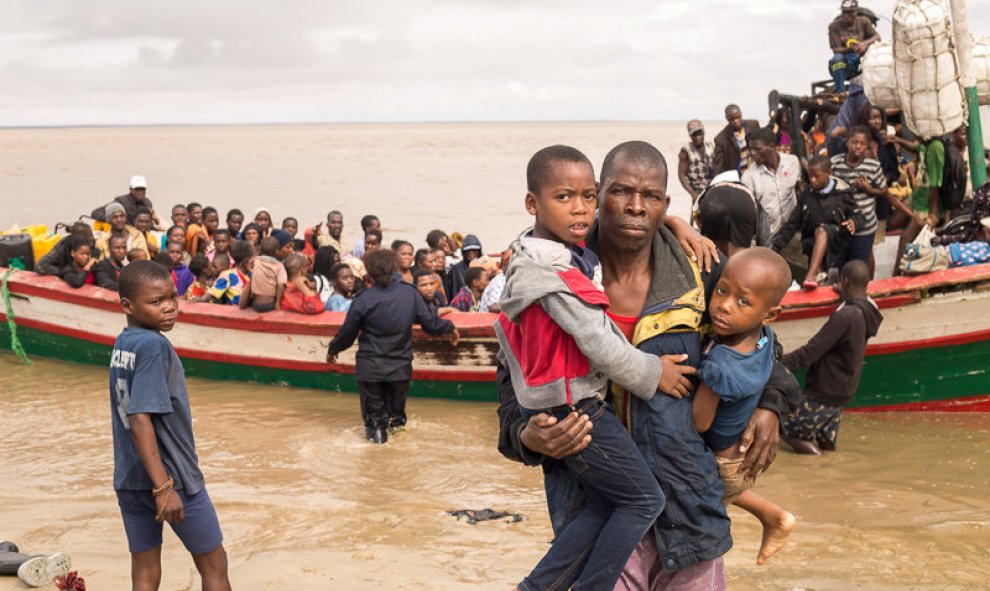
<path fill-rule="evenodd" d="M 327 348 L 327 362 L 336 364 L 337 356 L 358 339 L 354 378 L 361 396 L 365 435 L 373 443 L 385 443 L 389 430 L 406 424 L 406 396 L 412 378 L 412 325 L 419 324 L 427 334 L 450 335 L 454 346 L 460 335 L 452 322 L 430 312 L 413 286 L 395 280 L 395 255 L 391 250 L 369 252 L 364 262 L 372 287 L 364 290 L 347 311 Z"/>

